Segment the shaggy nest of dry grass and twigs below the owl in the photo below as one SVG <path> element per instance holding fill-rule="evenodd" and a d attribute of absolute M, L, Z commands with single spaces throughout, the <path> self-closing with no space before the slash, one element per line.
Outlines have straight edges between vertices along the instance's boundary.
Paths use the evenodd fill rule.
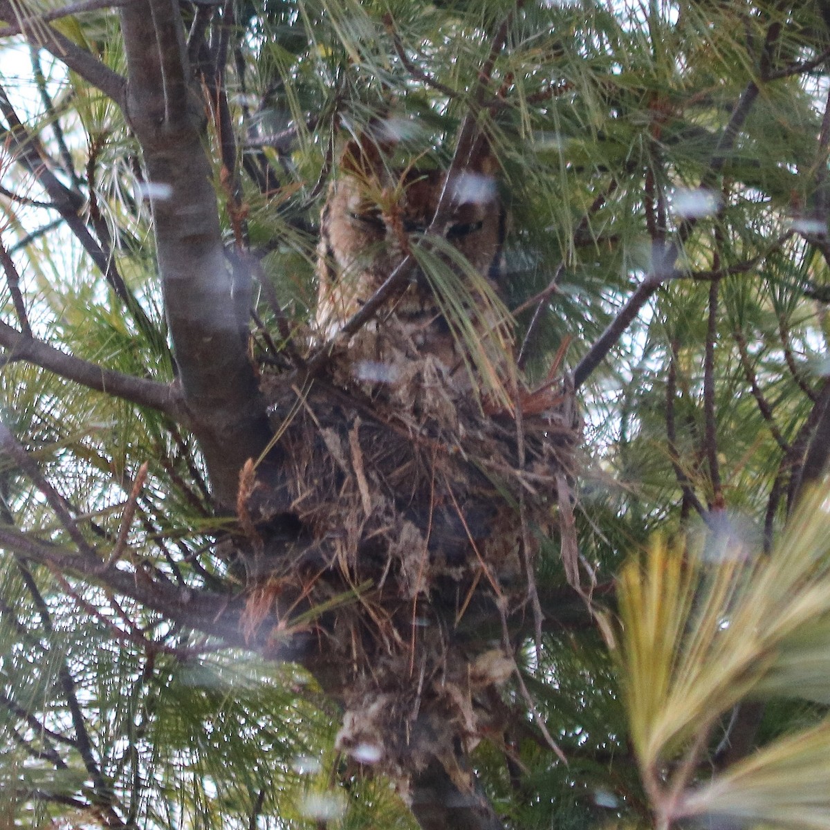
<path fill-rule="evenodd" d="M 345 352 L 306 388 L 263 378 L 281 503 L 313 556 L 283 561 L 279 588 L 251 586 L 247 625 L 291 583 L 320 608 L 326 685 L 345 708 L 339 747 L 399 780 L 437 758 L 461 785 L 457 752 L 495 728 L 498 706 L 481 701 L 515 666 L 500 614 L 527 603 L 579 429 L 568 394 L 517 425 L 486 415 L 428 357 L 409 365 L 391 387 L 356 382 Z"/>

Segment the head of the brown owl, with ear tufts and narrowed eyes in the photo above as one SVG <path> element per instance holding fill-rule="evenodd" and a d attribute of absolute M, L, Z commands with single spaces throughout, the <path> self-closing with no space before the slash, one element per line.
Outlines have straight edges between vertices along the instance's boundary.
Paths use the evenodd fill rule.
<path fill-rule="evenodd" d="M 320 309 L 326 325 L 354 314 L 427 233 L 439 255 L 454 262 L 454 271 L 466 274 L 468 282 L 477 275 L 492 288 L 500 271 L 505 212 L 489 144 L 478 140 L 452 173 L 421 164 L 394 166 L 390 159 L 397 144 L 376 126 L 350 139 L 340 155 L 321 222 Z M 447 210 L 437 226 L 439 203 Z M 434 291 L 419 269 L 403 305 L 396 298 L 396 307 L 434 305 Z M 332 294 L 334 304 L 328 299 Z"/>

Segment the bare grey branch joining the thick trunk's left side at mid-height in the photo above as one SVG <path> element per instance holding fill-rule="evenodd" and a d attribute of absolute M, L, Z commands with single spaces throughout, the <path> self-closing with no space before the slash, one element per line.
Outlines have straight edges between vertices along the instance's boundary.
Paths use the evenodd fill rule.
<path fill-rule="evenodd" d="M 41 340 L 27 337 L 3 322 L 0 322 L 0 346 L 7 349 L 4 358 L 7 362 L 25 360 L 61 378 L 81 383 L 81 386 L 123 398 L 139 406 L 157 409 L 178 422 L 188 422 L 181 394 L 173 384 L 157 383 L 113 369 L 104 369 L 89 360 L 77 358 L 74 354 L 61 352 Z"/>

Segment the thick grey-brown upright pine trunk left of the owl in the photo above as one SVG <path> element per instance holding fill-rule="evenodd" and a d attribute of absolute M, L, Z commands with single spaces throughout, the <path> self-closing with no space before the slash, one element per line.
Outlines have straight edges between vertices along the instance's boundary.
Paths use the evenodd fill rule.
<path fill-rule="evenodd" d="M 139 139 L 152 198 L 159 271 L 183 401 L 217 503 L 234 505 L 238 474 L 270 431 L 247 355 L 222 249 L 205 150 L 203 106 L 173 0 L 121 11 L 128 81 L 125 115 Z"/>

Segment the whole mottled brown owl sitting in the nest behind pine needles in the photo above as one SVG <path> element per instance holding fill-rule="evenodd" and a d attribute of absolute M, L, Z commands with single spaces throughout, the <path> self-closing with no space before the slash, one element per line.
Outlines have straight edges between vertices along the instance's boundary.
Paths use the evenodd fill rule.
<path fill-rule="evenodd" d="M 506 315 L 495 285 L 505 236 L 496 162 L 482 143 L 466 167 L 447 182 L 447 172 L 440 169 L 388 168 L 384 157 L 389 149 L 390 144 L 369 138 L 353 139 L 330 185 L 318 251 L 320 334 L 334 337 L 378 290 L 403 260 L 410 242 L 430 227 L 447 187 L 452 212 L 445 238 L 471 266 L 471 270 L 460 269 L 456 263 L 451 271 L 465 285 L 455 301 L 443 298 L 442 302 L 434 281 L 415 268 L 408 285 L 351 340 L 349 351 L 354 351 L 359 379 L 394 383 L 412 369 L 413 362 L 430 360 L 455 388 L 481 386 L 481 378 L 473 383 L 472 374 L 482 374 L 481 364 L 488 367 L 486 372 L 496 374 L 500 359 L 492 355 L 501 349 L 503 360 L 504 349 L 509 348 L 505 347 Z M 452 256 L 446 253 L 443 259 L 451 263 Z M 476 279 L 471 280 L 471 275 Z M 458 325 L 459 315 L 467 325 Z M 496 348 L 491 348 L 496 341 Z M 478 350 L 472 359 L 471 348 Z M 486 378 L 483 385 L 488 385 Z"/>

